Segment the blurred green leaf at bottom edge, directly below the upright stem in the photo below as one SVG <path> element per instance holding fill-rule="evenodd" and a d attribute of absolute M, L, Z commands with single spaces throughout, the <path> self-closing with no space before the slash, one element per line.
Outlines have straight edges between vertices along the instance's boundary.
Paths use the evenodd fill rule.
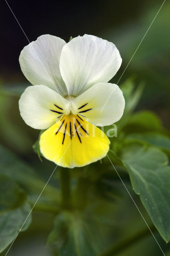
<path fill-rule="evenodd" d="M 85 229 L 81 214 L 63 212 L 54 221 L 48 245 L 52 246 L 58 256 L 95 256 Z"/>

